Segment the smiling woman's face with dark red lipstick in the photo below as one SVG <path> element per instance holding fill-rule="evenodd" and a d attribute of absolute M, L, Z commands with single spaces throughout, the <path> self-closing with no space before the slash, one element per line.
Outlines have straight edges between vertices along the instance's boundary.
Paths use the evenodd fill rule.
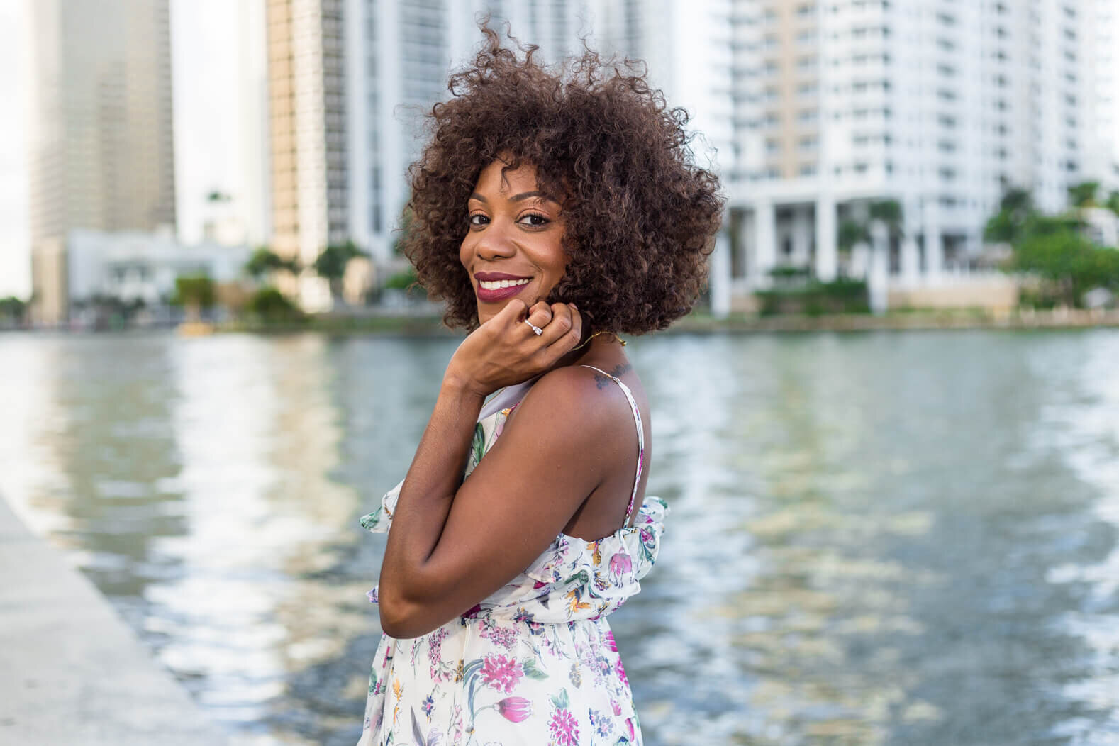
<path fill-rule="evenodd" d="M 514 298 L 526 305 L 544 300 L 567 265 L 560 204 L 536 187 L 536 168 L 523 164 L 501 173 L 496 160 L 478 177 L 470 196 L 470 228 L 459 261 L 478 299 L 485 323 Z"/>

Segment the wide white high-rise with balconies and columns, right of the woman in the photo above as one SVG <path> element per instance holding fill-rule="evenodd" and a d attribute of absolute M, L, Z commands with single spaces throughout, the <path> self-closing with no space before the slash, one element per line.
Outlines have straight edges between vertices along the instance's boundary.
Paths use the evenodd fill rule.
<path fill-rule="evenodd" d="M 1100 153 L 1088 105 L 1094 13 L 1071 0 L 734 0 L 732 274 L 857 272 L 837 223 L 895 200 L 887 272 L 967 268 L 1003 192 L 1066 202 Z"/>

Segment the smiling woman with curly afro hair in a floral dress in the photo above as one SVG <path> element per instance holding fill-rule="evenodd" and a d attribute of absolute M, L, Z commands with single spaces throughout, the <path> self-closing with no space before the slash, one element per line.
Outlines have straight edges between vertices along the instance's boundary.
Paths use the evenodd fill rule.
<path fill-rule="evenodd" d="M 360 744 L 639 744 L 604 617 L 666 508 L 643 497 L 648 403 L 618 334 L 690 309 L 718 182 L 642 75 L 593 53 L 548 70 L 483 32 L 412 167 L 405 253 L 473 331 L 363 519 L 392 530 Z"/>

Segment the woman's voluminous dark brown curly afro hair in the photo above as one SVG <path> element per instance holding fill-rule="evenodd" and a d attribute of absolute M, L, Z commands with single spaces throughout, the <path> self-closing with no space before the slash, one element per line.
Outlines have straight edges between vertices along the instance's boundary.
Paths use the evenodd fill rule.
<path fill-rule="evenodd" d="M 451 76 L 452 97 L 432 108 L 431 141 L 408 169 L 402 248 L 420 284 L 445 301 L 449 327 L 478 325 L 459 246 L 479 173 L 500 155 L 563 196 L 566 274 L 548 301 L 575 303 L 587 331 L 665 329 L 704 287 L 724 201 L 717 177 L 690 162 L 687 112 L 668 108 L 629 60 L 586 49 L 546 68 L 536 47 L 518 55 L 481 30 L 482 50 Z"/>

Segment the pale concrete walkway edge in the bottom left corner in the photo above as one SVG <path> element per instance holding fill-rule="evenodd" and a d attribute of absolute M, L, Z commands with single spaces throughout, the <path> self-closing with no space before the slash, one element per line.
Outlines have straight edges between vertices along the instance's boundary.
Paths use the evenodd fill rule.
<path fill-rule="evenodd" d="M 0 499 L 0 744 L 225 743 L 93 584 Z"/>

